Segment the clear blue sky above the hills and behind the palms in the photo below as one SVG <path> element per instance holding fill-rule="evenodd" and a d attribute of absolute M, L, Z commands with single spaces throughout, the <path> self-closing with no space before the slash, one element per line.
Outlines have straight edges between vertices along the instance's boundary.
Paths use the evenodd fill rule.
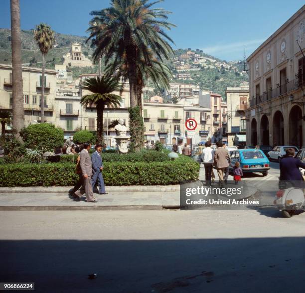
<path fill-rule="evenodd" d="M 21 28 L 47 22 L 53 30 L 86 35 L 89 12 L 109 6 L 109 0 L 20 0 Z M 249 56 L 298 9 L 304 0 L 165 0 L 155 7 L 172 11 L 176 24 L 169 35 L 174 48 L 202 49 L 223 60 Z M 9 0 L 1 0 L 0 27 L 10 26 Z"/>

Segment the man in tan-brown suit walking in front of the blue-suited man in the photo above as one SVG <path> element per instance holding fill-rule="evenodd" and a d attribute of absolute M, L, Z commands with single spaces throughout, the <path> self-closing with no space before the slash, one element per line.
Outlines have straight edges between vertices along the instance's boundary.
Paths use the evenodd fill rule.
<path fill-rule="evenodd" d="M 84 190 L 77 190 L 75 195 L 78 196 L 78 199 L 82 197 L 84 193 L 86 193 L 87 202 L 97 202 L 93 196 L 91 177 L 92 177 L 92 162 L 89 154 L 89 149 L 91 145 L 85 143 L 84 149 L 80 152 L 80 166 L 82 169 L 82 175 L 85 184 L 85 192 Z"/>

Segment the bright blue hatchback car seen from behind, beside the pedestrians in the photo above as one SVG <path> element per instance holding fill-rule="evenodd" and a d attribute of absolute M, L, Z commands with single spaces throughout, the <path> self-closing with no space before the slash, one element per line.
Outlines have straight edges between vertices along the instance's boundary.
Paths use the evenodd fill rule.
<path fill-rule="evenodd" d="M 243 173 L 261 172 L 263 176 L 268 175 L 270 161 L 264 152 L 256 148 L 236 149 L 230 151 L 231 164 L 230 171 L 233 171 L 235 162 L 238 161 Z"/>

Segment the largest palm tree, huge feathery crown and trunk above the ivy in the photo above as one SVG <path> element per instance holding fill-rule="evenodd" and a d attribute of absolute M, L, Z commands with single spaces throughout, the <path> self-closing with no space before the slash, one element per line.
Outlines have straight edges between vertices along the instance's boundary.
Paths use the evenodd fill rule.
<path fill-rule="evenodd" d="M 97 45 L 93 59 L 97 61 L 100 56 L 105 56 L 106 65 L 110 60 L 114 63 L 125 60 L 132 108 L 138 105 L 139 56 L 149 62 L 153 52 L 162 61 L 162 58 L 170 59 L 173 53 L 168 43 L 173 41 L 163 30 L 174 26 L 166 21 L 169 12 L 162 8 L 151 9 L 161 0 L 148 1 L 111 0 L 111 7 L 90 13 L 95 17 L 90 21 L 88 40 L 95 39 Z"/>

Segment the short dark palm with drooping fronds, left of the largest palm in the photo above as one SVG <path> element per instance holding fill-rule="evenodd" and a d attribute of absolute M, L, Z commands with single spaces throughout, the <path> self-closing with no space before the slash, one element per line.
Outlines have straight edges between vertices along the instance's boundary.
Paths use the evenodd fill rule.
<path fill-rule="evenodd" d="M 115 91 L 120 91 L 121 86 L 117 79 L 111 78 L 108 75 L 102 77 L 91 77 L 83 82 L 82 89 L 90 91 L 82 97 L 81 104 L 84 107 L 95 105 L 97 110 L 97 141 L 103 142 L 103 118 L 105 107 L 119 107 L 122 98 L 116 94 Z"/>

